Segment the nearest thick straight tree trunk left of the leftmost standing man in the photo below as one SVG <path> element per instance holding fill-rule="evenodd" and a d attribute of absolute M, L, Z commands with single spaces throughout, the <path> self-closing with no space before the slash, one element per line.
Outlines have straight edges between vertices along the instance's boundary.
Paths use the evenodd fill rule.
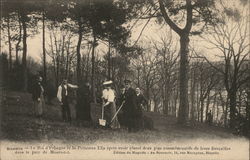
<path fill-rule="evenodd" d="M 22 57 L 22 71 L 23 71 L 23 91 L 27 91 L 27 26 L 26 26 L 27 16 L 21 12 L 21 22 L 23 26 L 23 57 Z"/>

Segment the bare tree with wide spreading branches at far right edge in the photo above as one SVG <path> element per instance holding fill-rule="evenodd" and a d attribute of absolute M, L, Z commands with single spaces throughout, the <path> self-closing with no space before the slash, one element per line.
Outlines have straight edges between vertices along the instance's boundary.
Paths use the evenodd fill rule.
<path fill-rule="evenodd" d="M 247 74 L 248 68 L 247 56 L 249 55 L 249 33 L 248 21 L 242 17 L 235 21 L 230 21 L 230 26 L 219 24 L 212 28 L 210 36 L 203 37 L 213 48 L 220 51 L 223 59 L 223 66 L 218 67 L 211 63 L 207 58 L 206 61 L 223 75 L 224 86 L 227 91 L 230 108 L 230 127 L 235 126 L 236 118 L 236 99 L 239 88 L 247 83 L 250 75 Z"/>

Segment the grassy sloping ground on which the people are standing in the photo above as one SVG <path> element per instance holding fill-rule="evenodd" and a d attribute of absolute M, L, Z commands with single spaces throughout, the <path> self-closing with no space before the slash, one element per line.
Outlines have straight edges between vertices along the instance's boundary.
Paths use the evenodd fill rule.
<path fill-rule="evenodd" d="M 74 105 L 71 105 L 74 109 Z M 97 106 L 98 107 L 98 106 Z M 41 122 L 33 116 L 30 94 L 7 92 L 4 104 L 1 105 L 1 138 L 10 141 L 47 141 L 62 142 L 162 142 L 182 139 L 231 139 L 238 138 L 219 127 L 196 124 L 191 127 L 176 126 L 176 118 L 158 113 L 146 113 L 154 120 L 155 130 L 128 133 L 125 129 L 110 130 L 91 127 L 78 127 L 61 121 L 61 107 L 56 101 L 46 105 L 45 117 Z M 93 114 L 97 114 L 93 109 Z M 74 111 L 72 112 L 74 117 Z M 98 119 L 98 117 L 96 117 Z"/>

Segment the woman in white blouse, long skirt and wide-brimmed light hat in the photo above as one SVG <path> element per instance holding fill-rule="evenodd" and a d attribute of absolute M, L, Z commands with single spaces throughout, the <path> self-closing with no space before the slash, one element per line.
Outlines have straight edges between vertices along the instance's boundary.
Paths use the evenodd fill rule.
<path fill-rule="evenodd" d="M 112 81 L 105 81 L 103 83 L 105 89 L 102 92 L 103 105 L 104 105 L 104 118 L 107 120 L 107 124 L 113 129 L 120 128 L 120 123 L 118 122 L 118 118 L 115 117 L 116 113 L 116 104 L 115 104 L 115 92 L 111 88 L 113 84 Z M 113 121 L 111 122 L 113 118 Z"/>

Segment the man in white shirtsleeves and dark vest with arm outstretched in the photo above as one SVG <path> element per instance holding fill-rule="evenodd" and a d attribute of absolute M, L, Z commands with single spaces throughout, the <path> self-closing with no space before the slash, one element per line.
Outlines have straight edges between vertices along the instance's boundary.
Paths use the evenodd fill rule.
<path fill-rule="evenodd" d="M 66 79 L 62 81 L 62 84 L 58 87 L 57 98 L 62 106 L 62 118 L 64 122 L 71 122 L 71 113 L 68 102 L 68 87 L 78 88 L 77 85 L 72 85 L 67 82 Z"/>

